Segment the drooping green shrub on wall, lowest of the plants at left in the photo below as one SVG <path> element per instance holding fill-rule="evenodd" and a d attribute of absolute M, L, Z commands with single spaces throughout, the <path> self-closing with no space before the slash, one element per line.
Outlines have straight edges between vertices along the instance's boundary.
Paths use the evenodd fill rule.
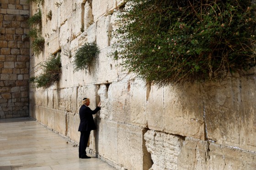
<path fill-rule="evenodd" d="M 35 83 L 36 88 L 49 88 L 59 81 L 61 74 L 60 53 L 57 56 L 52 55 L 41 67 L 43 68 L 43 73 L 37 77 L 30 78 L 30 82 Z"/>

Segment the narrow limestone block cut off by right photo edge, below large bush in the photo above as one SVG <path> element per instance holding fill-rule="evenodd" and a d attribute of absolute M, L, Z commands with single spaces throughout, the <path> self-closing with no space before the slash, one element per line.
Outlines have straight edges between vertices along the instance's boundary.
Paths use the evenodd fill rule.
<path fill-rule="evenodd" d="M 239 120 L 240 146 L 256 152 L 256 83 L 255 80 L 242 78 L 238 100 L 241 100 Z M 240 95 L 240 96 L 239 96 Z"/>

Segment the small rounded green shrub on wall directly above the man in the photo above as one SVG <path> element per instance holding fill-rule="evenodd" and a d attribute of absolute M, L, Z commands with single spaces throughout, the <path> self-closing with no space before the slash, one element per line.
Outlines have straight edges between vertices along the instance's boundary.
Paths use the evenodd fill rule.
<path fill-rule="evenodd" d="M 95 42 L 85 43 L 75 53 L 74 71 L 87 70 L 95 62 L 95 57 L 100 53 Z"/>

